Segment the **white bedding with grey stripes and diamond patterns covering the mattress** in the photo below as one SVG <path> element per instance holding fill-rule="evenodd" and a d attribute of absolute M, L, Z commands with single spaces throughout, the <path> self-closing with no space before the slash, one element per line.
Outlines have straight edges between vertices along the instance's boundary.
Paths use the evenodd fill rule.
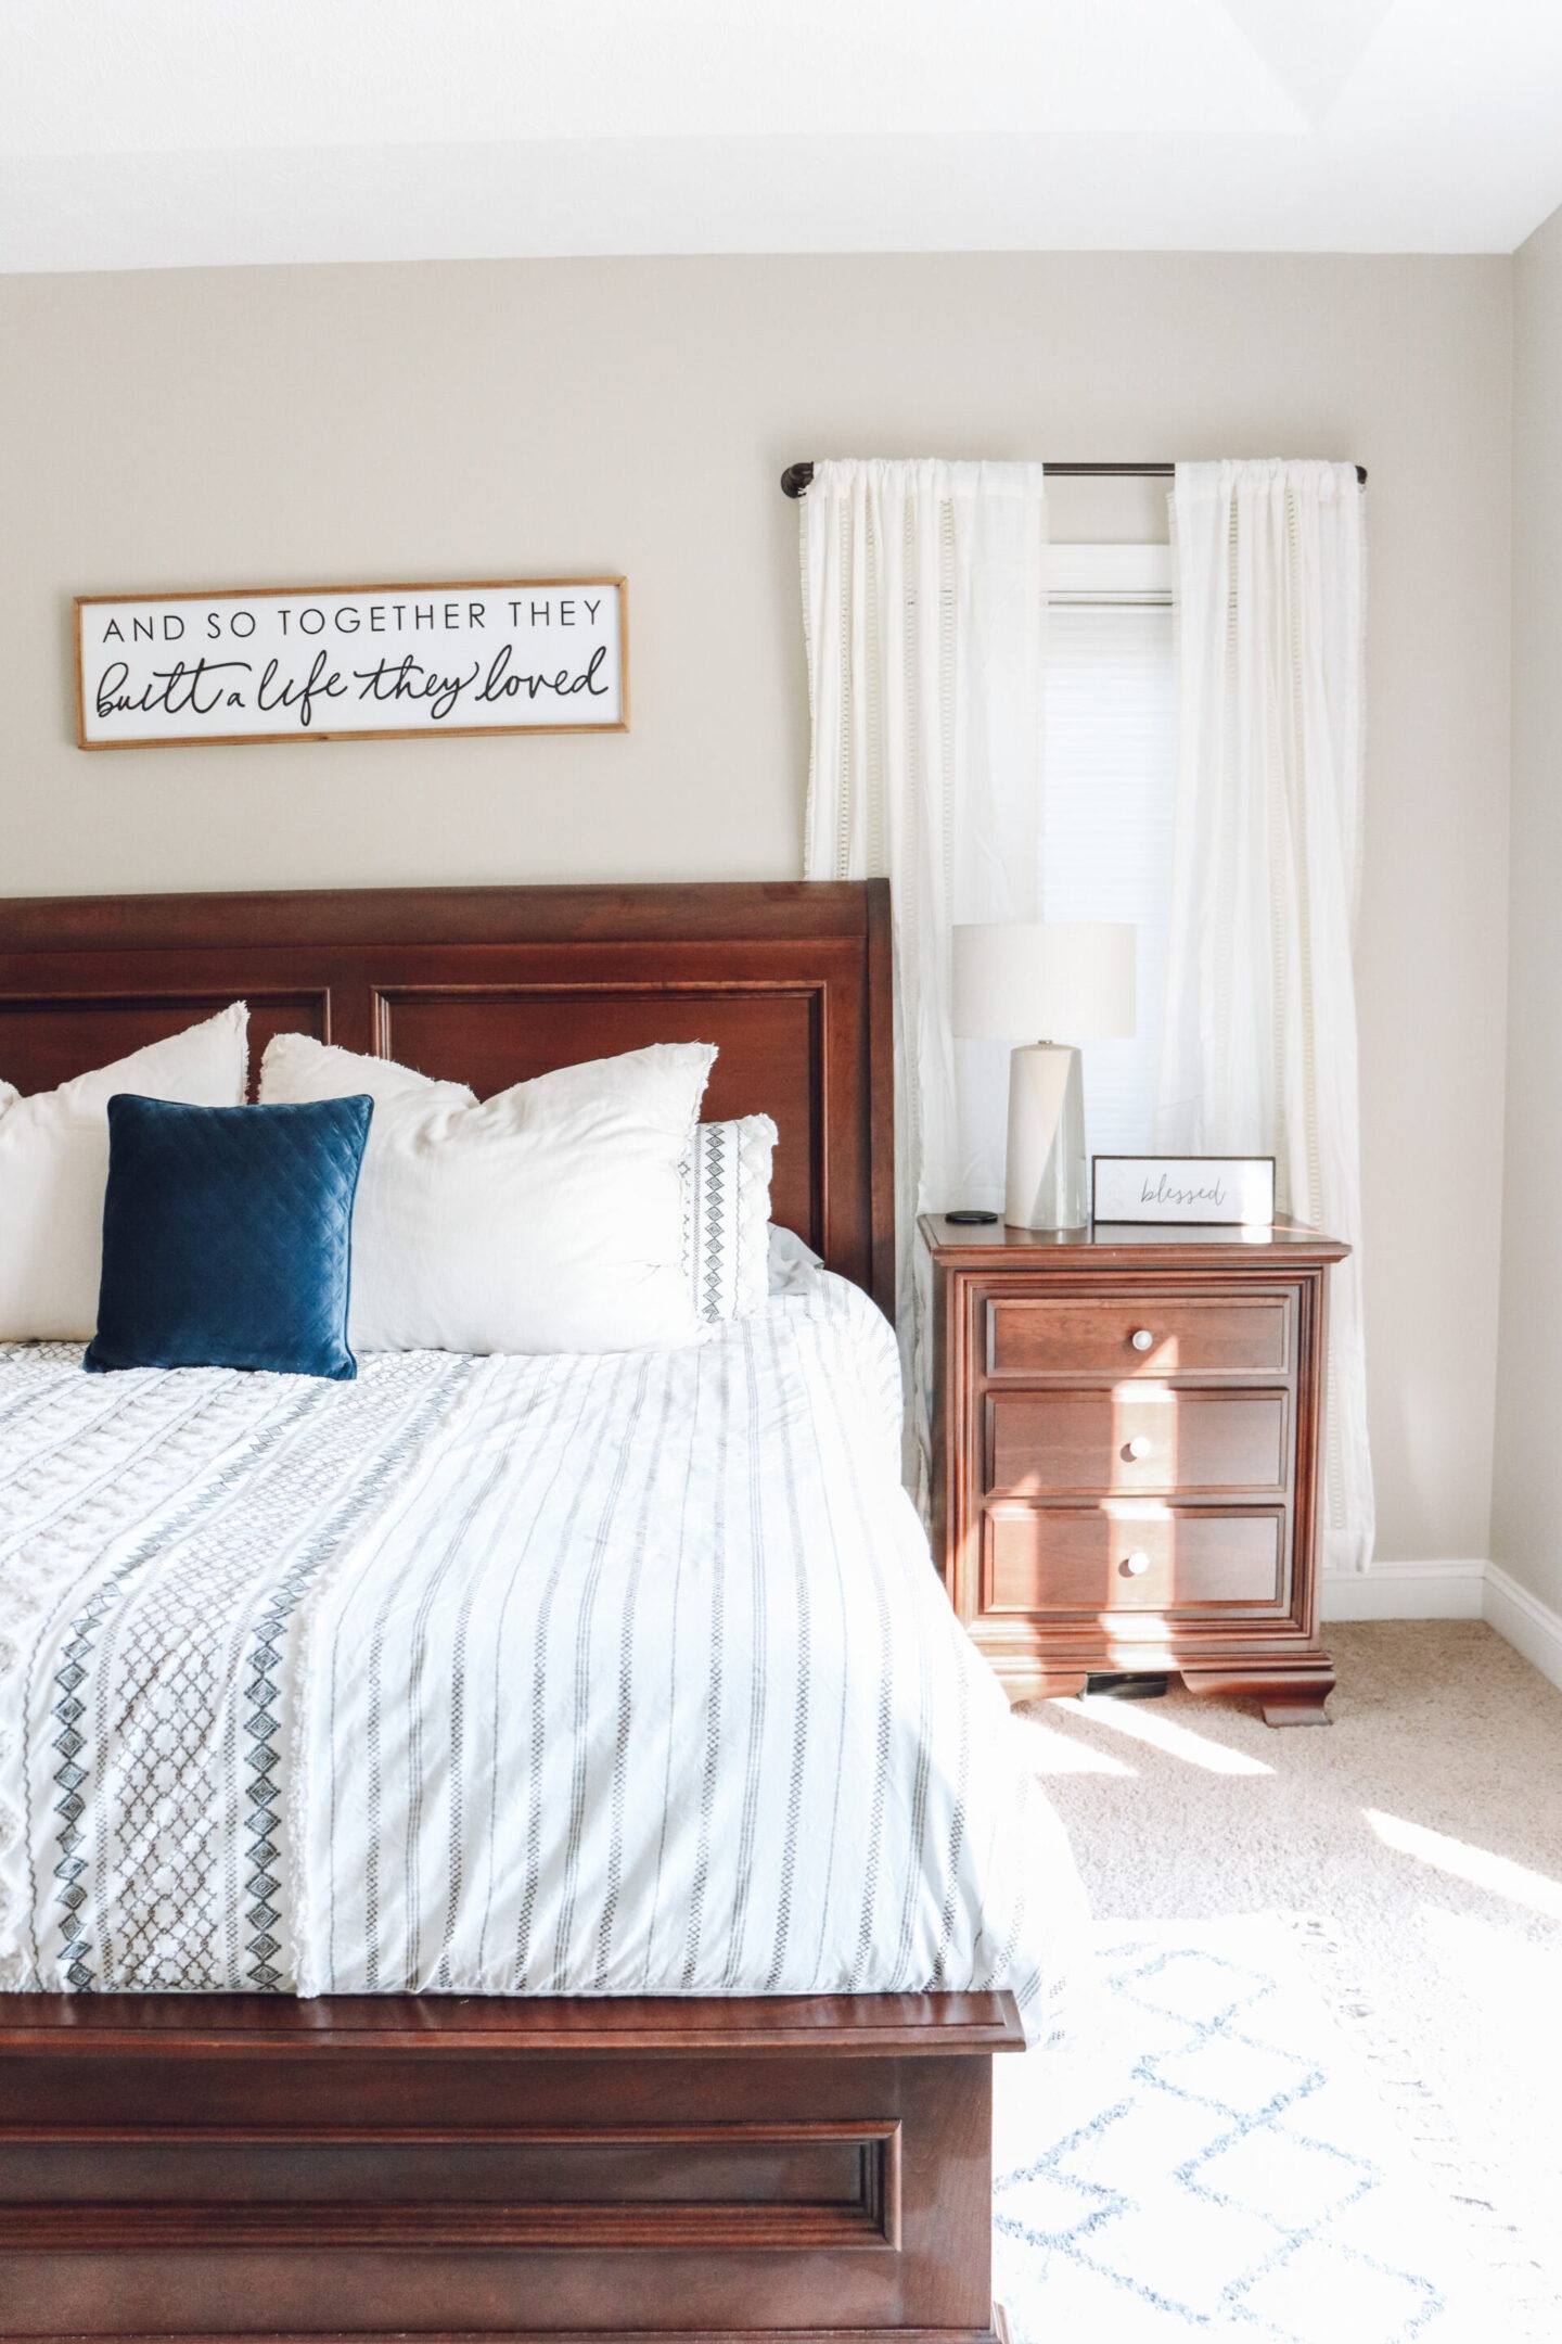
<path fill-rule="evenodd" d="M 895 1338 L 356 1383 L 0 1350 L 0 1983 L 1012 1985 L 1077 1917 L 899 1488 Z"/>

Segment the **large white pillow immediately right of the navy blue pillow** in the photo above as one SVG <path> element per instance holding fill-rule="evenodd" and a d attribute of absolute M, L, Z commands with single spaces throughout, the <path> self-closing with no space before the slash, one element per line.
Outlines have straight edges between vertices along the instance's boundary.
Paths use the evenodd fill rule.
<path fill-rule="evenodd" d="M 653 1043 L 478 1104 L 279 1034 L 260 1102 L 375 1099 L 354 1207 L 354 1350 L 667 1350 L 703 1327 L 679 1163 L 717 1052 Z"/>

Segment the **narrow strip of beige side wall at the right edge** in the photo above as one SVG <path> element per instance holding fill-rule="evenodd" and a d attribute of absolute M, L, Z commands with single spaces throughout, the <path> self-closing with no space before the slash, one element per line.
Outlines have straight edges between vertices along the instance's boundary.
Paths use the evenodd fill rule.
<path fill-rule="evenodd" d="M 1492 1554 L 1562 1608 L 1562 211 L 1513 267 L 1513 963 Z"/>

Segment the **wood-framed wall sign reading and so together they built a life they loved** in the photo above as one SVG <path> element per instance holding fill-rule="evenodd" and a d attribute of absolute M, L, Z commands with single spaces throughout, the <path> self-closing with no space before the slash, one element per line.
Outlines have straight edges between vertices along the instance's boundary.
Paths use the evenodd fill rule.
<path fill-rule="evenodd" d="M 623 579 L 77 595 L 80 748 L 625 731 Z"/>

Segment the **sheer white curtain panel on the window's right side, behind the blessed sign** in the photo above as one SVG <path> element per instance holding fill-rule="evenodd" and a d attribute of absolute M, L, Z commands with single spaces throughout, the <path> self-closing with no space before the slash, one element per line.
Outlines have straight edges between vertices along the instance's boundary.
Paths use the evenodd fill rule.
<path fill-rule="evenodd" d="M 1157 1146 L 1274 1156 L 1361 1240 L 1351 931 L 1363 495 L 1351 464 L 1178 464 L 1178 809 Z M 1330 1280 L 1323 1561 L 1372 1556 L 1361 1256 Z"/>

